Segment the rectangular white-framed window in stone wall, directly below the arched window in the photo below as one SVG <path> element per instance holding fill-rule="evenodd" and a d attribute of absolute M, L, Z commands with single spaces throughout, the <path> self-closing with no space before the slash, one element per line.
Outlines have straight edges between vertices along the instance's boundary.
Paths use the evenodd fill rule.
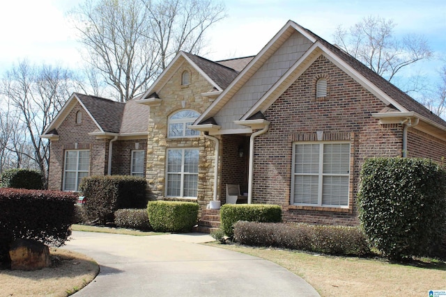
<path fill-rule="evenodd" d="M 197 198 L 199 150 L 167 151 L 166 195 Z"/>

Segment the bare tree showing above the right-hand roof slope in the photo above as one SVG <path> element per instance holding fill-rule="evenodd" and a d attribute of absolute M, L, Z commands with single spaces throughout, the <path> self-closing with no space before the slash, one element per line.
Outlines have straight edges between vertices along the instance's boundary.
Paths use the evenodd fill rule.
<path fill-rule="evenodd" d="M 348 54 L 367 65 L 388 81 L 404 67 L 433 56 L 428 42 L 422 35 L 394 38 L 392 20 L 366 17 L 346 30 L 339 26 L 334 42 Z"/>

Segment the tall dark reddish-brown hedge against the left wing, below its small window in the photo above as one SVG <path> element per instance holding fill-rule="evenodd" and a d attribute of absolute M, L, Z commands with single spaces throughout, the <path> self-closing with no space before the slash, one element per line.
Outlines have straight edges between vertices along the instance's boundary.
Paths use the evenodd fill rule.
<path fill-rule="evenodd" d="M 105 224 L 118 209 L 146 208 L 146 179 L 130 175 L 84 177 L 79 186 L 87 216 Z"/>

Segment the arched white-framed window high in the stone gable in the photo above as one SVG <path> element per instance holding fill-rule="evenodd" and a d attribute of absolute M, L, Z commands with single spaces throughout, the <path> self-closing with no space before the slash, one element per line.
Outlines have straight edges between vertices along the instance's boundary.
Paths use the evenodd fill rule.
<path fill-rule="evenodd" d="M 169 118 L 169 138 L 199 136 L 200 131 L 189 129 L 199 117 L 195 111 L 178 111 Z"/>

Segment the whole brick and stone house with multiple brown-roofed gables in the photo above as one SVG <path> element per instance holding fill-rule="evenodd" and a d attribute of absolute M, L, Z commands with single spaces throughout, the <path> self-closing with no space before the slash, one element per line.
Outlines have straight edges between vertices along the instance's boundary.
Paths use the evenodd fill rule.
<path fill-rule="evenodd" d="M 107 174 L 107 164 L 112 174 L 130 174 L 132 158 L 123 156 L 139 143 L 151 199 L 197 201 L 206 211 L 213 200 L 226 202 L 227 184 L 238 184 L 248 203 L 281 205 L 284 220 L 356 225 L 364 159 L 446 156 L 444 120 L 292 21 L 254 57 L 213 62 L 180 52 L 127 103 L 148 113 L 144 127 L 132 126 L 139 136 L 121 160 L 117 147 L 132 129 L 121 131 L 124 119 L 121 125 L 107 119 L 125 115 L 127 104 L 107 102 L 114 111 L 95 121 L 102 115 L 93 115 L 93 101 L 107 102 L 73 95 L 45 131 L 53 188 L 70 189 L 61 187 L 72 175 L 66 163 L 75 154 L 82 161 L 86 151 L 90 161 L 78 176 Z M 84 110 L 89 132 L 74 138 Z"/>

